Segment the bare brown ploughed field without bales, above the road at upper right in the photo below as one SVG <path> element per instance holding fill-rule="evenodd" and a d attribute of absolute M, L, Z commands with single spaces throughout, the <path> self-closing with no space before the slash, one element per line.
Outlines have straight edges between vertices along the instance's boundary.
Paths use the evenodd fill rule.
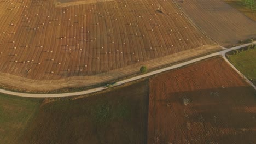
<path fill-rule="evenodd" d="M 184 13 L 213 40 L 225 47 L 256 37 L 256 22 L 222 0 L 175 0 Z"/>

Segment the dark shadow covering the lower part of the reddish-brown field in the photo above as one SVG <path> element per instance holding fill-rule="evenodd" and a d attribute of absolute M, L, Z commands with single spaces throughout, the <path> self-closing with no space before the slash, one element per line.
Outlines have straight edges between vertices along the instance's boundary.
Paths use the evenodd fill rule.
<path fill-rule="evenodd" d="M 164 143 L 256 143 L 256 91 L 250 86 L 166 88 L 149 97 L 148 143 L 156 137 Z"/>

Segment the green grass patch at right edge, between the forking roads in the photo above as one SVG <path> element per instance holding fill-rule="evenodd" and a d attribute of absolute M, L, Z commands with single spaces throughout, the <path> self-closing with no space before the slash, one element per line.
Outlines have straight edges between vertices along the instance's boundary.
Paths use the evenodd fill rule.
<path fill-rule="evenodd" d="M 248 79 L 256 84 L 256 49 L 249 49 L 228 56 L 229 61 Z"/>

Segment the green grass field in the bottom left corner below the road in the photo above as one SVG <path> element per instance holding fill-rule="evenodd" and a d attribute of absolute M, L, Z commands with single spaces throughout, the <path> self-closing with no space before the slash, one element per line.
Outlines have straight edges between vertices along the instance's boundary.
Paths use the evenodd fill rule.
<path fill-rule="evenodd" d="M 0 94 L 0 143 L 19 143 L 37 115 L 42 99 Z"/>

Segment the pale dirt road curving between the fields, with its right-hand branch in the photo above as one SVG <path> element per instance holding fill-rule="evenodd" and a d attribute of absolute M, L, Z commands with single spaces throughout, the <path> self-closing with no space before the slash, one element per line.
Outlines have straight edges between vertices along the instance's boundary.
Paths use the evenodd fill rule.
<path fill-rule="evenodd" d="M 220 56 L 222 56 L 222 57 L 225 59 L 225 61 L 226 61 L 235 71 L 237 71 L 238 74 L 240 74 L 240 75 L 243 77 L 243 79 L 245 79 L 245 80 L 249 83 L 249 85 L 251 85 L 254 89 L 256 89 L 256 86 L 254 86 L 251 81 L 249 81 L 245 76 L 243 76 L 243 75 L 240 73 L 240 71 L 238 71 L 238 70 L 228 61 L 228 59 L 226 59 L 226 57 L 225 57 L 225 53 L 226 53 L 226 52 L 229 52 L 229 51 L 232 51 L 232 50 L 236 50 L 236 49 L 240 49 L 241 47 L 245 47 L 245 46 L 248 46 L 248 45 L 251 45 L 251 44 L 256 44 L 256 42 L 249 43 L 249 44 L 243 44 L 243 45 L 240 45 L 240 46 L 235 46 L 235 47 L 232 47 L 232 48 L 230 48 L 230 49 L 225 49 L 225 50 L 223 50 L 223 51 L 219 51 L 219 52 L 216 52 L 216 53 L 212 53 L 212 54 L 210 54 L 210 55 L 206 55 L 206 56 L 203 56 L 203 57 L 195 58 L 195 59 L 192 59 L 192 60 L 187 61 L 187 62 L 179 63 L 179 64 L 176 64 L 176 65 L 172 65 L 171 67 L 167 67 L 167 68 L 155 70 L 155 71 L 149 72 L 149 73 L 147 73 L 147 74 L 135 76 L 135 77 L 132 77 L 132 78 L 130 78 L 130 79 L 126 79 L 126 80 L 122 80 L 122 81 L 118 81 L 115 86 L 123 85 L 123 84 L 126 83 L 126 82 L 131 82 L 131 81 L 135 81 L 135 80 L 138 80 L 138 79 L 142 79 L 142 78 L 147 77 L 147 76 L 151 76 L 151 75 L 155 75 L 155 74 L 158 74 L 158 73 L 162 73 L 162 72 L 167 71 L 167 70 L 171 70 L 171 69 L 183 67 L 184 65 L 188 65 L 188 64 L 191 64 L 191 63 L 195 63 L 195 62 L 201 61 L 201 60 L 206 59 L 206 58 L 210 58 L 210 57 L 213 57 L 213 56 L 218 56 L 218 55 L 220 55 Z M 29 94 L 29 93 L 11 92 L 11 91 L 7 91 L 7 90 L 4 90 L 4 89 L 0 89 L 0 93 L 10 94 L 10 95 L 16 95 L 16 96 L 19 96 L 19 97 L 54 98 L 54 97 L 70 97 L 70 96 L 84 95 L 84 94 L 99 92 L 99 91 L 102 91 L 102 90 L 104 90 L 104 89 L 107 89 L 107 88 L 104 88 L 104 87 L 97 87 L 97 88 L 92 88 L 92 89 L 88 89 L 88 90 L 86 90 L 86 91 L 81 91 L 81 92 L 60 93 L 60 94 Z"/>

